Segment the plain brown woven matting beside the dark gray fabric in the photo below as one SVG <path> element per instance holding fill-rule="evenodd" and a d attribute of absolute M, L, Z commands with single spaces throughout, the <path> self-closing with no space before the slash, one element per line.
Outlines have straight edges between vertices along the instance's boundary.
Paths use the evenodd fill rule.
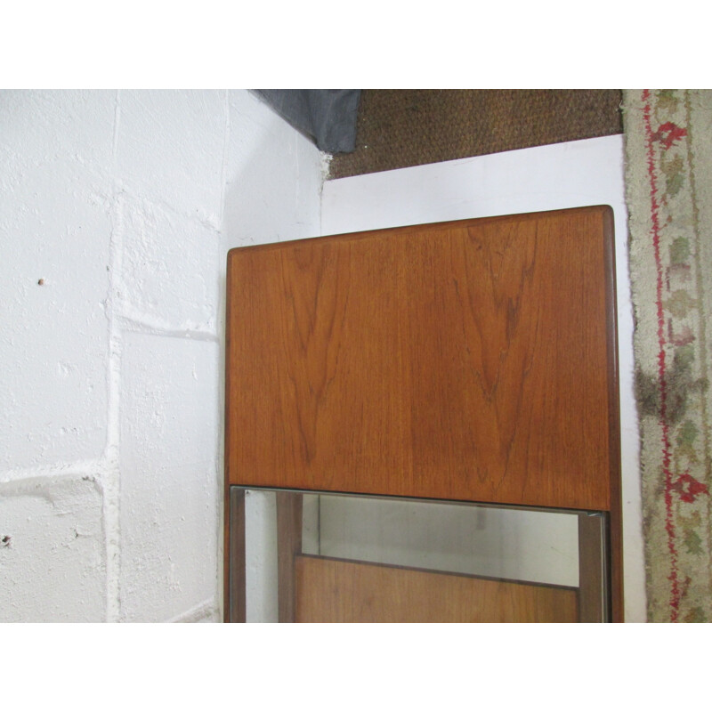
<path fill-rule="evenodd" d="M 622 134 L 619 89 L 363 89 L 330 178 Z"/>

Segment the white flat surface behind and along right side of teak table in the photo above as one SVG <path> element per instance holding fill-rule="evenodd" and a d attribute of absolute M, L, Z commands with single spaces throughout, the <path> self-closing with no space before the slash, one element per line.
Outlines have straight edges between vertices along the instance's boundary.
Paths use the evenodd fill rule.
<path fill-rule="evenodd" d="M 618 279 L 625 609 L 645 620 L 638 423 L 633 395 L 633 312 L 627 261 L 623 137 L 606 136 L 324 184 L 321 234 L 491 215 L 610 205 Z"/>

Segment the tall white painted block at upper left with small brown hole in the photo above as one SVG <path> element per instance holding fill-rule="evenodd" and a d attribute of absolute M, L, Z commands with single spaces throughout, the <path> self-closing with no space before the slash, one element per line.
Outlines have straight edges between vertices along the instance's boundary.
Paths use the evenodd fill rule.
<path fill-rule="evenodd" d="M 110 182 L 90 160 L 110 157 L 109 100 L 0 93 L 0 472 L 105 446 Z M 79 142 L 82 101 L 108 151 Z"/>

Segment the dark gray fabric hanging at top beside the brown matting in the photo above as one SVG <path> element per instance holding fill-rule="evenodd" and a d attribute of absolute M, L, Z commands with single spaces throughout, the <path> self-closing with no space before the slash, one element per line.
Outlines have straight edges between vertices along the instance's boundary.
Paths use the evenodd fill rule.
<path fill-rule="evenodd" d="M 360 89 L 254 89 L 279 116 L 320 150 L 350 153 L 356 146 Z"/>

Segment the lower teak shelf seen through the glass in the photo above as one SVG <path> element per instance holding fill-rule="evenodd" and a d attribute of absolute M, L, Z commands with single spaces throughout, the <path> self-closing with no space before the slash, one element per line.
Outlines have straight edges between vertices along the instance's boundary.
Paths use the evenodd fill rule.
<path fill-rule="evenodd" d="M 297 623 L 576 623 L 575 589 L 297 556 Z"/>

